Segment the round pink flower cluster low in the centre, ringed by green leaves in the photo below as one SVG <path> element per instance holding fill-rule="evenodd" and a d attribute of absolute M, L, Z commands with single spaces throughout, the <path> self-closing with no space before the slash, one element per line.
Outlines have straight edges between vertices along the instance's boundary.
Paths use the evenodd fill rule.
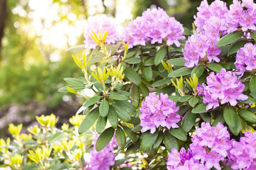
<path fill-rule="evenodd" d="M 140 126 L 142 127 L 141 132 L 151 130 L 151 133 L 156 131 L 160 125 L 167 129 L 179 128 L 176 124 L 180 121 L 181 117 L 178 112 L 179 106 L 176 107 L 176 103 L 168 99 L 168 94 L 149 93 L 146 99 L 141 104 L 140 114 Z"/>

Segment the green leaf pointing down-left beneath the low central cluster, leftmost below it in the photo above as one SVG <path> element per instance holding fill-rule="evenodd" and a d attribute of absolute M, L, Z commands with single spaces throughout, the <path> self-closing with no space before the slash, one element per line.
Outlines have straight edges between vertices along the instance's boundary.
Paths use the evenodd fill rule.
<path fill-rule="evenodd" d="M 147 152 L 148 150 L 150 150 L 155 143 L 157 136 L 158 129 L 156 129 L 156 132 L 154 132 L 153 134 L 151 134 L 150 131 L 147 131 L 141 142 L 141 150 L 143 152 Z"/>

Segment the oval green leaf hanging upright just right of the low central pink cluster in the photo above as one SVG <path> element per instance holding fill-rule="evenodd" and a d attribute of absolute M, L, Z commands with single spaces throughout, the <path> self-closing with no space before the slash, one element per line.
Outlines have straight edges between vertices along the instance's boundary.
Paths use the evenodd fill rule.
<path fill-rule="evenodd" d="M 197 115 L 191 113 L 191 109 L 187 111 L 181 122 L 181 128 L 187 133 L 196 123 Z"/>

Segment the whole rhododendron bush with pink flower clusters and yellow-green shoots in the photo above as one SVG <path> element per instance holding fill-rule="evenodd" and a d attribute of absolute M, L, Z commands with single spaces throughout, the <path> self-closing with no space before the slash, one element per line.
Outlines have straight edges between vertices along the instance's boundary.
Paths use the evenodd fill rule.
<path fill-rule="evenodd" d="M 256 169 L 256 4 L 206 0 L 193 30 L 161 8 L 121 32 L 88 18 L 85 45 L 69 48 L 84 77 L 65 78 L 84 101 L 0 140 L 12 169 Z M 83 50 L 83 52 L 79 52 Z M 91 72 L 89 64 L 97 67 Z"/>

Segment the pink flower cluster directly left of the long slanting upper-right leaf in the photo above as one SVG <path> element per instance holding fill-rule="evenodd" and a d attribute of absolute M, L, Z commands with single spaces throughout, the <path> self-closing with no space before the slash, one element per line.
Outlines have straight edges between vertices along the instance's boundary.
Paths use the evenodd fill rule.
<path fill-rule="evenodd" d="M 195 32 L 194 35 L 188 37 L 185 48 L 182 49 L 184 60 L 188 61 L 184 65 L 188 68 L 194 67 L 194 65 L 198 66 L 199 60 L 220 62 L 217 56 L 221 54 L 221 50 L 216 46 L 219 39 L 219 36 L 211 36 L 206 32 L 200 34 Z"/>

